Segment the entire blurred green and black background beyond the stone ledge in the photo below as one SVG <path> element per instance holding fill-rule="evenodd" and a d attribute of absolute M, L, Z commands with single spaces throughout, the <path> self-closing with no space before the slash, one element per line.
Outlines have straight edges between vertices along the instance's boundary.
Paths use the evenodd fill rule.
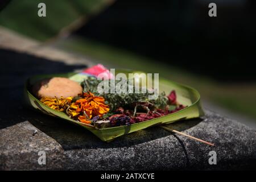
<path fill-rule="evenodd" d="M 210 108 L 256 119 L 255 0 L 0 2 L 1 27 L 109 68 L 160 73 L 198 89 Z"/>

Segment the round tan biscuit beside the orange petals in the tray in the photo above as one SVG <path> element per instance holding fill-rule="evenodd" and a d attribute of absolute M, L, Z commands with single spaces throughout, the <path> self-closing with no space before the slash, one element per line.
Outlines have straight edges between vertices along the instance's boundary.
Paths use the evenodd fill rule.
<path fill-rule="evenodd" d="M 37 97 L 76 97 L 82 93 L 82 86 L 75 81 L 64 77 L 53 77 L 44 79 L 32 88 Z"/>

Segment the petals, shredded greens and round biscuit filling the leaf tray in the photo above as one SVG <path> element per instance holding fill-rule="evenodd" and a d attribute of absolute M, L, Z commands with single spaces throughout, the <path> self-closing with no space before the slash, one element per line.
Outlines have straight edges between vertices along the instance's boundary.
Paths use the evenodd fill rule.
<path fill-rule="evenodd" d="M 87 78 L 81 84 L 69 78 L 52 77 L 36 83 L 32 88 L 33 93 L 51 109 L 96 129 L 132 125 L 186 107 L 177 102 L 175 90 L 170 90 L 168 95 L 159 93 L 155 100 L 148 99 L 149 92 L 100 93 L 97 87 L 102 80 L 98 80 L 97 76 L 103 73 L 107 78 L 113 78 L 108 69 L 96 65 L 84 73 Z M 129 80 L 122 81 L 130 84 Z"/>

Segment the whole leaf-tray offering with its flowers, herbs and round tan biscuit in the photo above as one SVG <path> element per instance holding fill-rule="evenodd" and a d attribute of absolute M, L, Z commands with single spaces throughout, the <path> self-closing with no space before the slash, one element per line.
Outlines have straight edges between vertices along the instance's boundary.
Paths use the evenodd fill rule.
<path fill-rule="evenodd" d="M 103 65 L 76 73 L 36 75 L 27 79 L 25 100 L 28 106 L 79 125 L 103 141 L 156 125 L 169 131 L 166 124 L 204 115 L 197 90 L 152 75 L 108 70 Z"/>

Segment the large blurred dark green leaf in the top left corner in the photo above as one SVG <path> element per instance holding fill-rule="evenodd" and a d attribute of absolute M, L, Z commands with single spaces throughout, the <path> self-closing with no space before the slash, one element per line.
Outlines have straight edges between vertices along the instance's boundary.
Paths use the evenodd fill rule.
<path fill-rule="evenodd" d="M 38 4 L 46 4 L 46 17 L 38 16 Z M 106 0 L 13 0 L 0 12 L 0 25 L 34 39 L 55 36 L 81 16 L 106 6 Z"/>

